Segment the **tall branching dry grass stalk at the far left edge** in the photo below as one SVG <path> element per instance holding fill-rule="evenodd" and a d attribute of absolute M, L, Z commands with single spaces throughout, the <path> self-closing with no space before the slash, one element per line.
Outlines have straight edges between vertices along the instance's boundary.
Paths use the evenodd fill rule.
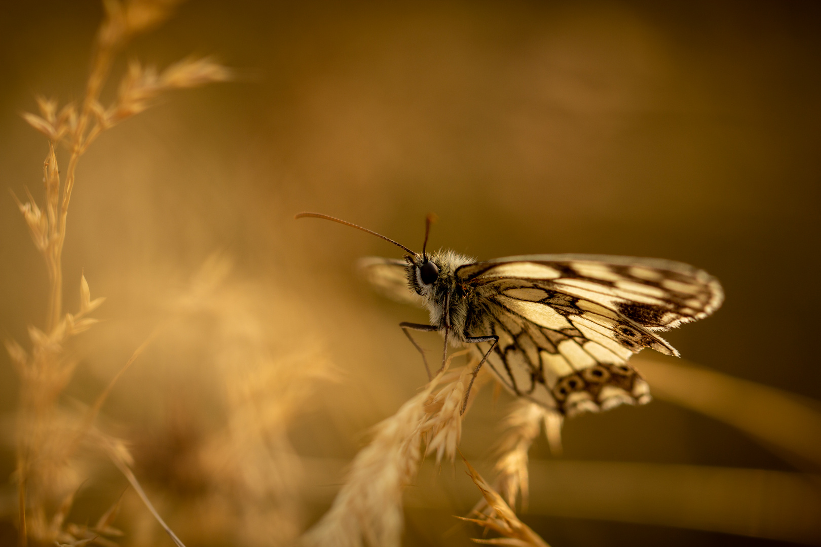
<path fill-rule="evenodd" d="M 41 209 L 30 194 L 26 203 L 19 200 L 17 203 L 34 245 L 44 256 L 49 294 L 45 329 L 34 326 L 29 329 L 30 352 L 11 340 L 6 343 L 21 377 L 16 439 L 21 545 L 26 545 L 29 537 L 53 543 L 64 533 L 74 538 L 71 540 L 74 545 L 84 541 L 103 542 L 100 538 L 80 539 L 62 530 L 67 508 L 71 507 L 71 499 L 80 481 L 75 461 L 78 443 L 71 439 L 71 435 L 79 431 L 81 437 L 88 437 L 94 413 L 99 410 L 99 405 L 95 405 L 90 413 L 92 419 L 76 421 L 59 408 L 59 395 L 76 365 L 67 352 L 67 345 L 75 335 L 94 324 L 95 320 L 88 315 L 103 302 L 103 299 L 90 299 L 89 285 L 83 276 L 80 280 L 80 310 L 75 314 L 62 312 L 62 249 L 76 166 L 94 139 L 103 130 L 144 110 L 147 101 L 159 93 L 229 77 L 222 66 L 204 59 L 179 62 L 161 75 L 134 64 L 123 79 L 115 102 L 110 107 L 100 105 L 99 94 L 117 52 L 135 34 L 149 30 L 167 18 L 175 3 L 105 0 L 105 18 L 97 36 L 82 105 L 78 108 L 74 103 L 67 103 L 59 107 L 56 101 L 37 98 L 39 116 L 24 115 L 25 121 L 48 139 L 43 168 L 44 207 Z M 55 152 L 59 144 L 64 144 L 69 151 L 62 180 Z"/>

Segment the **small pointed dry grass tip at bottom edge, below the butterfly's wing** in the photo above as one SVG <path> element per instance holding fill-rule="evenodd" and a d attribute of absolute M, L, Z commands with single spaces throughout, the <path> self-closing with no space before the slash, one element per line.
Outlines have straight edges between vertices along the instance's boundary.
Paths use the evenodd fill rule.
<path fill-rule="evenodd" d="M 513 547 L 549 547 L 549 545 L 537 534 L 530 529 L 524 522 L 521 522 L 513 509 L 505 503 L 502 495 L 493 486 L 479 475 L 470 463 L 465 460 L 465 465 L 468 469 L 468 475 L 473 479 L 479 491 L 484 497 L 484 502 L 488 506 L 488 513 L 477 513 L 478 518 L 461 518 L 463 521 L 475 522 L 479 526 L 484 526 L 484 530 L 493 530 L 501 534 L 502 538 L 493 538 L 491 540 L 474 539 L 476 543 L 484 545 L 511 545 Z"/>

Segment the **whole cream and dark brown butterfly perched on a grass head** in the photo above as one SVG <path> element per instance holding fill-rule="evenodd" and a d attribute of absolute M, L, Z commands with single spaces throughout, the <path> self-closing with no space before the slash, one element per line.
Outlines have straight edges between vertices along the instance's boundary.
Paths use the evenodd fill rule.
<path fill-rule="evenodd" d="M 627 362 L 644 348 L 678 356 L 659 332 L 703 319 L 721 307 L 718 280 L 682 262 L 594 254 L 530 254 L 476 261 L 451 250 L 422 253 L 372 230 L 336 221 L 386 239 L 406 251 L 404 260 L 363 258 L 359 269 L 383 294 L 427 308 L 430 325 L 447 345 L 473 344 L 480 361 L 470 386 L 487 363 L 511 394 L 556 413 L 574 416 L 621 404 L 644 404 L 649 385 Z M 441 369 L 440 369 L 441 370 Z"/>

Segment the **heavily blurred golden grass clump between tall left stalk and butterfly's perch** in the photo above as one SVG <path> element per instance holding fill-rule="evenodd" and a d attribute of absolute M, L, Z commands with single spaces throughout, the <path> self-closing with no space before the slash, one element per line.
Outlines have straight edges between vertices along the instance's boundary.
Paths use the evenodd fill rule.
<path fill-rule="evenodd" d="M 270 347 L 268 334 L 285 327 L 259 317 L 255 305 L 265 289 L 227 283 L 229 272 L 226 260 L 209 259 L 178 303 L 211 319 L 208 353 L 226 410 L 225 425 L 204 435 L 195 449 L 196 480 L 207 485 L 205 494 L 182 504 L 190 513 L 223 513 L 220 533 L 231 536 L 232 544 L 291 545 L 304 526 L 303 471 L 288 430 L 310 407 L 318 381 L 337 375 L 323 352 L 300 349 L 317 346 L 308 326 L 300 326 L 304 340 L 290 336 L 283 347 Z M 282 321 L 281 313 L 273 315 Z"/>

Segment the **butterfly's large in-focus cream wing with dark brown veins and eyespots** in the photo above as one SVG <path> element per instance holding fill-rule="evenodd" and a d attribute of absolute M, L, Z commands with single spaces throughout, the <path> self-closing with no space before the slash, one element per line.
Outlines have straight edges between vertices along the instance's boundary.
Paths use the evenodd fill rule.
<path fill-rule="evenodd" d="M 648 402 L 627 359 L 644 348 L 678 355 L 656 333 L 709 316 L 723 299 L 706 272 L 649 258 L 498 258 L 459 267 L 456 280 L 470 294 L 467 333 L 499 337 L 488 365 L 502 384 L 568 415 Z"/>

